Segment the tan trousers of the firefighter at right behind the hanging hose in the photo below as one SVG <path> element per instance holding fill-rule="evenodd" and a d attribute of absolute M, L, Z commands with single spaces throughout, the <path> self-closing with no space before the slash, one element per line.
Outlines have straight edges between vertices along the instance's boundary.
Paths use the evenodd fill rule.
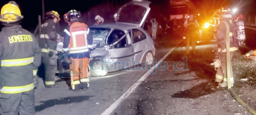
<path fill-rule="evenodd" d="M 234 77 L 233 77 L 233 70 L 232 70 L 232 64 L 231 60 L 234 55 L 235 51 L 230 52 L 230 83 L 234 84 Z M 227 63 L 226 63 L 226 52 L 220 53 L 220 69 L 217 69 L 216 78 L 215 81 L 217 82 L 227 82 Z"/>

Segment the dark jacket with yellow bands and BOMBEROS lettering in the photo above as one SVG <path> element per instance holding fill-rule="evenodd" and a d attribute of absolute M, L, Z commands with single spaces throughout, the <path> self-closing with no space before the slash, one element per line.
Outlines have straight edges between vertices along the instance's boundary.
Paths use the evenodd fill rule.
<path fill-rule="evenodd" d="M 3 27 L 0 32 L 0 61 L 1 93 L 34 89 L 33 73 L 41 64 L 41 49 L 33 34 L 21 25 Z"/>

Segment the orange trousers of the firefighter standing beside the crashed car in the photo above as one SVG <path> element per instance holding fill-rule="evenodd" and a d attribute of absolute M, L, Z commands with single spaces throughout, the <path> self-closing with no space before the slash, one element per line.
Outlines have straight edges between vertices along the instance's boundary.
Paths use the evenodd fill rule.
<path fill-rule="evenodd" d="M 70 65 L 71 87 L 74 89 L 75 85 L 89 82 L 89 78 L 88 78 L 89 58 L 70 57 L 70 60 L 72 62 Z"/>

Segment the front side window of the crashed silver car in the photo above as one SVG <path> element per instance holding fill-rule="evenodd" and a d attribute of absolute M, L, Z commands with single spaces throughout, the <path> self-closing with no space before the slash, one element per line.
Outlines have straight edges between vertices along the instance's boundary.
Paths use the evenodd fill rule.
<path fill-rule="evenodd" d="M 122 48 L 128 45 L 127 37 L 123 37 L 125 34 L 122 30 L 113 30 L 108 37 L 107 44 L 114 44 L 114 48 Z M 122 38 L 123 37 L 123 38 Z M 121 39 L 122 38 L 122 39 Z"/>

